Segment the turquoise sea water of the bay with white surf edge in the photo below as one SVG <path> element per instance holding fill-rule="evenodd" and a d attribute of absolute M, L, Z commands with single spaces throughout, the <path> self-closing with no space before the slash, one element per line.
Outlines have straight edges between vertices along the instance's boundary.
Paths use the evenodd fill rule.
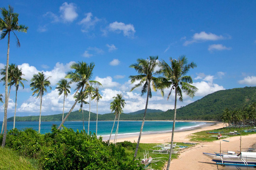
<path fill-rule="evenodd" d="M 61 122 L 41 122 L 41 133 L 49 133 L 51 132 L 51 127 L 53 124 L 57 124 L 57 127 Z M 113 127 L 114 121 L 98 121 L 98 136 L 106 137 L 110 135 L 111 129 Z M 141 128 L 142 121 L 119 121 L 118 134 L 119 135 L 136 135 L 139 134 Z M 207 124 L 207 122 L 176 122 L 175 123 L 175 131 L 187 130 L 190 128 L 196 128 L 198 126 L 203 126 Z M 2 122 L 0 122 L 2 128 Z M 143 133 L 163 133 L 172 131 L 172 121 L 145 121 L 143 126 Z M 83 130 L 83 122 L 65 122 L 64 126 L 67 128 L 72 128 L 74 131 Z M 117 126 L 117 121 L 114 126 L 113 133 L 115 134 Z M 13 122 L 7 122 L 7 130 L 11 130 L 13 128 Z M 38 122 L 15 122 L 15 128 L 22 130 L 25 128 L 33 128 L 38 131 Z M 84 121 L 84 129 L 87 132 L 88 130 L 88 122 Z M 90 132 L 96 132 L 96 122 L 90 121 Z"/>

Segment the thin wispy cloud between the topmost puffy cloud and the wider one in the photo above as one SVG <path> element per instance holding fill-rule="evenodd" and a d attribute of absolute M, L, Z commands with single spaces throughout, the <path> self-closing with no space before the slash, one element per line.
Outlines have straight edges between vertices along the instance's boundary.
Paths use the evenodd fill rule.
<path fill-rule="evenodd" d="M 82 25 L 82 32 L 88 32 L 89 29 L 93 28 L 94 25 L 99 22 L 100 20 L 97 17 L 92 19 L 92 13 L 86 13 L 85 18 L 78 22 L 79 25 Z"/>

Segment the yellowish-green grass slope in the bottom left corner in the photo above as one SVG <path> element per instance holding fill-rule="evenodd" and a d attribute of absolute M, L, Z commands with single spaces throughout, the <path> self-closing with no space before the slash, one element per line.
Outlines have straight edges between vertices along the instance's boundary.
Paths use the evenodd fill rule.
<path fill-rule="evenodd" d="M 0 169 L 19 169 L 19 170 L 30 170 L 38 169 L 37 163 L 31 163 L 34 160 L 26 159 L 19 156 L 16 152 L 8 148 L 0 147 Z"/>

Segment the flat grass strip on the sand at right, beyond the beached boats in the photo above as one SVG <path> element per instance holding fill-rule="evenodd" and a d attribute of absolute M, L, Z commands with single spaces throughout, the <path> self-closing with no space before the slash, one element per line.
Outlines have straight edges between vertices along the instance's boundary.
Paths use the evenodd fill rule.
<path fill-rule="evenodd" d="M 244 130 L 248 130 L 248 128 L 220 128 L 220 129 L 215 129 L 215 130 L 210 130 L 210 131 L 201 131 L 201 132 L 196 132 L 196 133 L 193 133 L 189 136 L 190 138 L 190 141 L 193 141 L 193 142 L 212 142 L 212 141 L 215 141 L 215 140 L 218 140 L 217 138 L 215 137 L 211 137 L 211 135 L 214 135 L 214 134 L 208 134 L 206 132 L 220 132 L 222 135 L 228 135 L 228 137 L 234 137 L 234 136 L 237 136 L 237 135 L 249 135 L 249 134 L 254 134 L 256 132 L 244 132 Z M 237 135 L 231 135 L 231 134 L 228 134 L 229 132 L 234 132 L 234 131 L 237 131 Z M 217 135 L 217 134 L 215 134 Z M 224 138 L 221 138 L 221 139 L 224 139 Z"/>

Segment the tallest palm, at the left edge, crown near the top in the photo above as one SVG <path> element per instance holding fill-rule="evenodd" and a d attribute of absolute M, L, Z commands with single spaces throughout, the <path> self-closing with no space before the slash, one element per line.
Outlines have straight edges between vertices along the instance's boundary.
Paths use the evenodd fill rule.
<path fill-rule="evenodd" d="M 9 66 L 9 52 L 10 52 L 10 32 L 14 33 L 14 36 L 17 39 L 17 46 L 20 47 L 20 41 L 15 34 L 14 31 L 19 32 L 27 32 L 28 27 L 25 25 L 19 25 L 18 21 L 18 13 L 13 12 L 13 7 L 9 5 L 8 10 L 6 8 L 2 7 L 0 8 L 1 14 L 3 18 L 0 18 L 0 31 L 1 32 L 1 38 L 0 40 L 4 39 L 5 36 L 8 34 L 8 44 L 7 44 L 7 59 L 6 59 L 6 70 L 5 70 L 5 105 L 4 105 L 4 122 L 7 122 L 7 107 L 8 107 L 8 66 Z M 4 136 L 3 136 L 3 142 L 2 147 L 5 146 L 6 141 L 6 134 L 7 134 L 7 123 L 4 124 Z"/>

